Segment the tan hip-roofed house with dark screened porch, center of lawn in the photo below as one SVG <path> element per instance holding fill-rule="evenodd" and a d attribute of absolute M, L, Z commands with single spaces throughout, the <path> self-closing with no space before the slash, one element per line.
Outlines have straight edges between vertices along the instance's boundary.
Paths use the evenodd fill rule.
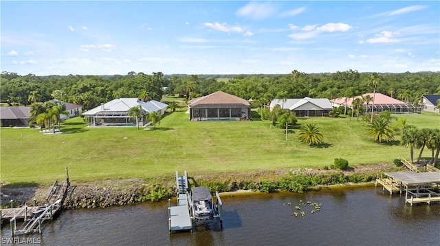
<path fill-rule="evenodd" d="M 188 101 L 190 121 L 248 120 L 250 103 L 245 99 L 217 91 Z"/>

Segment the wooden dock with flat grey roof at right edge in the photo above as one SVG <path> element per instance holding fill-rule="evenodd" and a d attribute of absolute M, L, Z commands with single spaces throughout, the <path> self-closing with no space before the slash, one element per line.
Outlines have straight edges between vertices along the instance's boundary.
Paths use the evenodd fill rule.
<path fill-rule="evenodd" d="M 377 177 L 377 184 L 382 184 L 383 190 L 388 190 L 390 195 L 394 192 L 400 194 L 405 190 L 405 203 L 430 204 L 440 201 L 440 173 L 413 171 L 384 173 L 386 177 Z"/>

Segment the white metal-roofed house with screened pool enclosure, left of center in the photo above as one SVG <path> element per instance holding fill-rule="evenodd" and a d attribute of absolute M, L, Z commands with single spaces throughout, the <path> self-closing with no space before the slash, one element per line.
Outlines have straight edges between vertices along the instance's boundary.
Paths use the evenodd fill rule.
<path fill-rule="evenodd" d="M 142 119 L 132 119 L 133 117 L 129 116 L 130 108 L 136 106 L 141 106 L 142 110 L 146 113 Z M 87 116 L 89 126 L 132 126 L 136 125 L 136 122 L 144 125 L 146 115 L 151 112 L 163 115 L 166 112 L 166 108 L 168 108 L 168 105 L 160 101 L 151 100 L 144 102 L 137 98 L 120 98 L 113 99 L 107 103 L 101 103 L 100 106 L 83 112 L 83 115 Z"/>

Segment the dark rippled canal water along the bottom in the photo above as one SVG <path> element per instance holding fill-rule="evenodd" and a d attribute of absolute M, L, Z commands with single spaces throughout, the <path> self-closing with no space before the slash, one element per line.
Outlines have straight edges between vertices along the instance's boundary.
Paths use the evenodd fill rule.
<path fill-rule="evenodd" d="M 223 230 L 199 223 L 197 232 L 169 234 L 164 201 L 63 211 L 43 234 L 26 237 L 42 245 L 440 245 L 440 204 L 409 206 L 382 187 L 241 193 L 222 201 Z M 1 236 L 10 237 L 8 225 Z"/>

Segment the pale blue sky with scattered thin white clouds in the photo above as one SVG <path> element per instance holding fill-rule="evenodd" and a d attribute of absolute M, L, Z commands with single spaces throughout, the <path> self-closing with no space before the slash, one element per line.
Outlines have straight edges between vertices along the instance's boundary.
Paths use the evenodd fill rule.
<path fill-rule="evenodd" d="M 439 1 L 1 1 L 21 75 L 440 71 Z"/>

